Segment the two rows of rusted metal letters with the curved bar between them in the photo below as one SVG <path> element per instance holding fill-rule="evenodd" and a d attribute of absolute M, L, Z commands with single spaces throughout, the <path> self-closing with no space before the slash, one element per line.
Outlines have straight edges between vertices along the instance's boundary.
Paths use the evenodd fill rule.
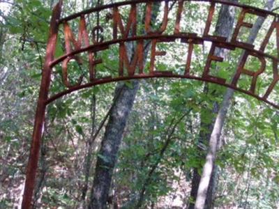
<path fill-rule="evenodd" d="M 191 59 L 193 55 L 193 48 L 194 45 L 203 45 L 204 41 L 210 41 L 211 49 L 209 50 L 209 54 L 207 56 L 206 65 L 204 66 L 204 71 L 202 73 L 202 77 L 199 78 L 201 80 L 205 80 L 207 82 L 214 82 L 218 84 L 222 84 L 224 86 L 229 86 L 231 88 L 238 89 L 242 92 L 246 92 L 250 95 L 255 96 L 256 98 L 259 98 L 261 100 L 265 100 L 268 103 L 272 104 L 273 106 L 277 106 L 277 104 L 273 104 L 272 102 L 269 102 L 267 98 L 273 91 L 274 87 L 279 81 L 279 74 L 278 74 L 278 57 L 279 57 L 279 20 L 277 15 L 273 14 L 274 19 L 271 23 L 271 26 L 269 27 L 269 30 L 267 31 L 266 35 L 264 36 L 264 39 L 262 40 L 262 43 L 259 47 L 259 50 L 255 50 L 254 46 L 251 44 L 248 44 L 246 42 L 239 41 L 239 32 L 241 30 L 241 27 L 246 28 L 252 28 L 253 24 L 245 22 L 245 18 L 247 15 L 255 15 L 256 17 L 263 17 L 266 18 L 268 13 L 266 13 L 264 10 L 256 10 L 255 8 L 251 8 L 249 6 L 243 6 L 241 8 L 241 12 L 239 14 L 239 18 L 236 22 L 236 26 L 234 28 L 232 38 L 227 42 L 227 38 L 220 37 L 220 36 L 211 36 L 209 34 L 209 30 L 211 28 L 211 22 L 213 20 L 213 15 L 216 11 L 216 2 L 217 1 L 211 1 L 209 6 L 209 13 L 206 19 L 206 24 L 204 27 L 204 32 L 202 37 L 198 37 L 196 33 L 184 33 L 181 31 L 181 19 L 183 18 L 183 15 L 186 13 L 186 3 L 184 1 L 174 1 L 173 3 L 177 3 L 176 6 L 176 15 L 175 17 L 175 24 L 173 33 L 165 34 L 164 32 L 167 29 L 167 24 L 169 22 L 169 4 L 171 1 L 165 1 L 163 5 L 163 10 L 161 11 L 163 13 L 163 19 L 161 20 L 158 29 L 153 29 L 152 22 L 152 14 L 153 14 L 153 8 L 154 2 L 153 1 L 143 1 L 146 3 L 146 10 L 145 10 L 145 17 L 144 17 L 144 34 L 137 34 L 139 33 L 139 30 L 137 30 L 138 27 L 138 20 L 137 20 L 137 8 L 138 4 L 142 3 L 142 1 L 130 1 L 130 11 L 128 14 L 128 19 L 123 20 L 123 17 L 120 13 L 120 6 L 117 4 L 112 4 L 111 8 L 109 8 L 110 13 L 107 13 L 107 16 L 109 20 L 112 21 L 112 39 L 105 41 L 103 36 L 103 27 L 100 26 L 98 23 L 97 26 L 95 26 L 92 30 L 92 37 L 89 38 L 89 33 L 86 29 L 86 15 L 89 15 L 88 13 L 80 13 L 72 15 L 73 17 L 69 16 L 64 19 L 60 20 L 60 24 L 63 24 L 63 33 L 65 38 L 65 49 L 66 54 L 61 56 L 60 58 L 54 60 L 52 62 L 52 66 L 54 66 L 56 63 L 62 62 L 62 75 L 63 75 L 63 83 L 68 88 L 74 88 L 77 86 L 80 86 L 82 84 L 82 77 L 80 77 L 80 80 L 76 84 L 70 84 L 68 81 L 68 63 L 70 60 L 75 59 L 78 63 L 82 63 L 79 56 L 77 56 L 80 52 L 87 52 L 88 53 L 88 59 L 89 59 L 89 75 L 90 75 L 90 82 L 96 82 L 98 80 L 96 78 L 96 66 L 100 63 L 102 63 L 102 59 L 96 59 L 96 53 L 103 51 L 105 49 L 109 49 L 110 45 L 119 44 L 119 77 L 128 76 L 128 77 L 135 77 L 136 75 L 145 75 L 144 74 L 144 50 L 146 47 L 146 42 L 144 40 L 150 40 L 151 42 L 151 53 L 150 53 L 150 67 L 149 67 L 149 74 L 148 75 L 169 75 L 169 77 L 172 77 L 172 72 L 169 71 L 157 71 L 155 69 L 155 61 L 156 56 L 164 56 L 166 52 L 161 52 L 156 50 L 156 45 L 158 42 L 174 42 L 176 40 L 180 40 L 183 43 L 188 44 L 188 54 L 186 59 L 186 67 L 183 77 L 186 78 L 193 78 L 197 79 L 194 75 L 191 75 L 190 72 L 190 65 L 191 65 Z M 173 5 L 172 5 L 173 6 Z M 103 8 L 105 9 L 105 7 Z M 93 10 L 93 12 L 99 13 L 102 8 Z M 80 26 L 79 31 L 77 34 L 77 38 L 75 38 L 75 35 L 73 34 L 72 29 L 70 28 L 70 25 L 68 24 L 68 21 L 73 20 L 74 18 L 79 17 L 80 18 Z M 142 23 L 141 23 L 142 24 Z M 276 41 L 277 41 L 277 49 L 278 49 L 278 56 L 271 56 L 269 54 L 265 54 L 264 51 L 266 49 L 266 46 L 269 44 L 269 41 L 271 39 L 271 35 L 276 32 Z M 90 40 L 92 40 L 93 44 L 90 44 Z M 133 54 L 133 58 L 130 60 L 130 54 L 128 52 L 128 49 L 126 47 L 126 42 L 128 41 L 134 41 L 137 42 L 137 46 L 135 47 L 135 52 Z M 241 61 L 239 61 L 239 65 L 236 69 L 236 72 L 234 74 L 234 77 L 232 77 L 232 81 L 229 84 L 226 84 L 226 79 L 220 78 L 220 77 L 214 77 L 211 75 L 211 63 L 213 61 L 215 62 L 222 62 L 223 57 L 216 56 L 215 51 L 216 48 L 224 48 L 229 50 L 234 50 L 236 47 L 241 48 L 244 50 L 243 56 L 241 56 Z M 259 69 L 246 69 L 245 65 L 248 61 L 248 58 L 252 56 L 255 59 L 258 59 L 260 63 Z M 273 63 L 273 79 L 271 81 L 271 84 L 268 88 L 266 88 L 266 92 L 259 96 L 255 93 L 255 88 L 257 84 L 257 79 L 259 75 L 261 75 L 264 70 L 266 70 L 266 59 L 271 59 Z M 125 72 L 126 70 L 126 72 Z M 136 73 L 137 70 L 137 74 Z M 249 91 L 240 89 L 237 87 L 238 80 L 241 76 L 248 75 L 252 78 L 252 82 L 250 84 Z M 175 77 L 175 76 L 174 76 Z M 103 79 L 110 79 L 110 78 L 103 78 Z"/>

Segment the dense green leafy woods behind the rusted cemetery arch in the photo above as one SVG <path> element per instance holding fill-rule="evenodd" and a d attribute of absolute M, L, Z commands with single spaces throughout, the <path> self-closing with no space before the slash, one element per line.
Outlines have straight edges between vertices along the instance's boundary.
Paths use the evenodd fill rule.
<path fill-rule="evenodd" d="M 54 3 L 0 1 L 0 208 L 20 207 L 22 200 Z M 239 3 L 275 12 L 279 6 L 272 0 Z M 63 1 L 63 16 L 96 5 L 95 0 Z M 200 33 L 208 6 L 189 3 L 185 28 Z M 128 9 L 123 11 L 128 16 Z M 229 38 L 238 15 L 239 10 L 219 8 L 213 20 L 215 33 Z M 158 16 L 153 18 L 155 24 Z M 271 21 L 264 24 L 249 18 L 262 28 Z M 241 33 L 256 44 L 265 35 L 256 29 Z M 168 45 L 160 47 L 167 49 Z M 268 50 L 276 52 L 276 44 Z M 195 49 L 199 56 L 193 68 L 202 70 L 207 52 L 206 46 Z M 237 63 L 241 56 L 240 51 L 218 53 L 227 59 L 213 66 L 218 73 L 233 68 L 229 63 Z M 179 70 L 182 57 L 179 45 L 169 48 L 166 61 L 158 68 Z M 100 65 L 100 73 L 118 69 L 118 53 L 102 54 L 102 58 L 105 64 Z M 259 63 L 250 65 L 257 68 Z M 247 79 L 241 85 L 250 82 Z M 52 91 L 61 86 L 56 79 Z M 224 87 L 186 79 L 104 84 L 51 104 L 33 208 L 193 208 L 218 114 L 224 123 L 206 208 L 278 208 L 278 111 Z"/>

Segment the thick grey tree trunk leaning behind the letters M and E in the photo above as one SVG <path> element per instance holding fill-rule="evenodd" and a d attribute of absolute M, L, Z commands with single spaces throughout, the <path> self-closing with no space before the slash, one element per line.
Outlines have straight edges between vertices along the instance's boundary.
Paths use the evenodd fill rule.
<path fill-rule="evenodd" d="M 160 3 L 154 3 L 151 22 L 156 20 L 160 11 Z M 144 22 L 144 20 L 142 20 Z M 150 42 L 146 42 L 144 47 L 144 63 L 149 52 Z M 133 43 L 126 44 L 130 54 L 130 60 L 133 59 L 135 47 Z M 105 135 L 100 146 L 96 162 L 96 171 L 91 189 L 91 199 L 89 209 L 103 209 L 107 206 L 110 185 L 112 182 L 112 173 L 117 160 L 119 146 L 122 141 L 123 132 L 128 121 L 128 116 L 133 108 L 135 95 L 140 86 L 138 80 L 131 82 L 132 88 L 123 83 L 116 86 L 114 93 L 114 107 L 110 112 L 110 118 L 105 127 Z"/>

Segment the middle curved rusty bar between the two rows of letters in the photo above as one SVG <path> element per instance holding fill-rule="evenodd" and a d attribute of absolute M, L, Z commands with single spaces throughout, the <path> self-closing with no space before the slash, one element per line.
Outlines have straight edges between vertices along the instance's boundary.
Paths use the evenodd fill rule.
<path fill-rule="evenodd" d="M 167 38 L 167 39 L 168 38 L 169 39 L 172 39 L 172 38 L 176 38 L 176 39 L 188 38 L 188 39 L 192 39 L 192 40 L 216 42 L 216 43 L 220 43 L 221 45 L 224 45 L 224 46 L 226 45 L 226 46 L 229 46 L 229 47 L 236 47 L 236 48 L 244 49 L 248 52 L 252 52 L 254 54 L 258 54 L 259 56 L 264 56 L 266 58 L 273 59 L 273 60 L 279 62 L 279 59 L 276 58 L 275 56 L 271 56 L 271 55 L 266 54 L 264 52 L 257 51 L 255 49 L 252 49 L 251 47 L 247 47 L 247 45 L 243 45 L 243 44 L 238 43 L 238 42 L 226 42 L 226 41 L 214 38 L 214 36 L 197 37 L 197 36 L 189 36 L 187 34 L 180 33 L 180 34 L 177 34 L 177 35 L 149 35 L 149 36 L 137 36 L 137 37 L 130 37 L 130 38 L 121 38 L 121 39 L 117 39 L 117 40 L 109 40 L 107 42 L 101 42 L 101 43 L 98 43 L 98 44 L 95 44 L 95 45 L 89 45 L 88 47 L 84 47 L 82 49 L 78 49 L 78 50 L 75 50 L 75 51 L 70 52 L 68 54 L 64 54 L 64 55 L 60 56 L 59 58 L 52 61 L 52 63 L 50 63 L 50 67 L 51 68 L 54 67 L 54 65 L 60 63 L 61 61 L 63 61 L 64 59 L 66 59 L 69 56 L 74 56 L 75 54 L 79 54 L 79 53 L 82 53 L 82 52 L 87 52 L 87 51 L 96 52 L 100 49 L 103 49 L 104 47 L 114 45 L 114 44 L 119 43 L 119 42 L 128 42 L 128 41 L 135 41 L 135 40 L 151 40 L 151 39 L 156 39 L 156 38 Z"/>

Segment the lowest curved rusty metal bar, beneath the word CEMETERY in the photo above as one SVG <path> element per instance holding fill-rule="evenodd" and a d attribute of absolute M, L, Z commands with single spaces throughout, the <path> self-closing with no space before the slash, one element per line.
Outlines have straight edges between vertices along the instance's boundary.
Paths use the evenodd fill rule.
<path fill-rule="evenodd" d="M 279 104 L 274 104 L 273 102 L 270 102 L 269 100 L 266 100 L 264 98 L 261 98 L 259 95 L 255 95 L 253 93 L 251 93 L 250 91 L 246 91 L 243 90 L 241 88 L 237 88 L 236 86 L 232 86 L 229 84 L 220 84 L 218 81 L 215 81 L 213 79 L 206 79 L 203 77 L 195 77 L 192 75 L 133 75 L 131 77 L 116 77 L 116 78 L 107 78 L 107 79 L 96 79 L 96 82 L 92 82 L 92 83 L 88 83 L 88 84 L 82 84 L 80 86 L 75 86 L 73 88 L 69 88 L 66 91 L 62 91 L 60 93 L 57 93 L 56 95 L 53 95 L 51 98 L 49 98 L 46 102 L 46 104 L 50 104 L 51 102 L 54 102 L 54 100 L 57 100 L 61 97 L 63 97 L 64 95 L 67 95 L 69 93 L 72 93 L 74 91 L 78 91 L 84 88 L 89 88 L 92 86 L 98 86 L 100 84 L 107 84 L 107 83 L 112 83 L 112 82 L 121 82 L 121 81 L 126 81 L 129 79 L 148 79 L 148 78 L 180 78 L 180 79 L 195 79 L 198 81 L 202 81 L 202 82 L 209 82 L 212 84 L 219 84 L 221 86 L 225 86 L 228 88 L 232 88 L 236 91 L 240 91 L 241 93 L 245 93 L 247 95 L 250 95 L 254 98 L 256 98 L 257 100 L 261 100 L 263 102 L 266 102 L 267 104 L 270 104 L 272 107 L 275 107 L 276 109 L 279 109 Z"/>

